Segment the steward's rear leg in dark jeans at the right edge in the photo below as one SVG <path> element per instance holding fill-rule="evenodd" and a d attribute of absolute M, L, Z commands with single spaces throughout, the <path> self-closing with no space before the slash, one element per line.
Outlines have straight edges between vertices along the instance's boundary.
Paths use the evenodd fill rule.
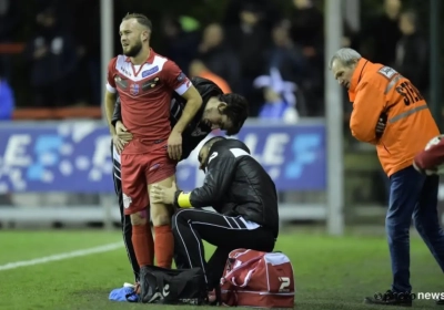
<path fill-rule="evenodd" d="M 417 232 L 444 271 L 444 231 L 437 215 L 438 176 L 426 178 L 421 192 L 420 204 L 413 214 Z"/>

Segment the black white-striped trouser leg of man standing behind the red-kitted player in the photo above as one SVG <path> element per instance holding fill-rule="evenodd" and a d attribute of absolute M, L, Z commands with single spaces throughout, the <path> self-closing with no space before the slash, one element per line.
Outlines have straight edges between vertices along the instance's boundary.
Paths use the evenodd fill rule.
<path fill-rule="evenodd" d="M 122 196 L 122 180 L 120 178 L 120 162 L 114 157 L 114 147 L 111 141 L 111 158 L 113 162 L 112 167 L 112 180 L 114 182 L 115 195 L 118 195 L 119 209 L 120 209 L 120 220 L 122 224 L 123 242 L 127 248 L 127 255 L 131 264 L 132 271 L 134 273 L 134 280 L 139 280 L 139 264 L 135 258 L 134 248 L 132 246 L 132 225 L 129 215 L 123 213 L 123 196 Z"/>

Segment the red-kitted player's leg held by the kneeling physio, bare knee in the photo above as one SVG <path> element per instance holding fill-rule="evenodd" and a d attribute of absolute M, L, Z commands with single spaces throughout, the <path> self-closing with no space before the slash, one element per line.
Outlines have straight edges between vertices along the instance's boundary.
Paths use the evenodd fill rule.
<path fill-rule="evenodd" d="M 155 184 L 171 187 L 174 175 L 160 182 L 148 185 L 148 190 Z M 150 204 L 151 220 L 154 227 L 154 254 L 157 265 L 162 268 L 171 268 L 174 255 L 174 238 L 171 231 L 172 206 L 163 204 Z"/>

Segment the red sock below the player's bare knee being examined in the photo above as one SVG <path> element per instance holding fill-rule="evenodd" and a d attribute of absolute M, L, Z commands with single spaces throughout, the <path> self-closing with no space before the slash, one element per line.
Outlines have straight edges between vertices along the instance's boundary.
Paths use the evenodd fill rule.
<path fill-rule="evenodd" d="M 154 254 L 159 267 L 171 268 L 174 255 L 174 238 L 170 225 L 154 227 Z"/>

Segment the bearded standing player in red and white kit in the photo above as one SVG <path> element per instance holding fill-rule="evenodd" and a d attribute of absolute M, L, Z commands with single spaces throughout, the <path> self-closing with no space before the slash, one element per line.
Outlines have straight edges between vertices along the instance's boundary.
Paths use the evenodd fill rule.
<path fill-rule="evenodd" d="M 182 133 L 202 104 L 202 97 L 190 80 L 171 60 L 150 48 L 151 21 L 143 14 L 127 14 L 120 24 L 123 55 L 108 65 L 105 108 L 110 132 L 115 94 L 122 103 L 122 120 L 133 138 L 121 154 L 121 178 L 124 214 L 130 215 L 132 245 L 139 266 L 171 268 L 173 236 L 170 206 L 149 204 L 154 184 L 171 186 L 175 165 L 182 153 Z M 170 102 L 174 91 L 186 101 L 180 120 L 170 127 Z M 154 225 L 152 244 L 149 218 Z"/>

